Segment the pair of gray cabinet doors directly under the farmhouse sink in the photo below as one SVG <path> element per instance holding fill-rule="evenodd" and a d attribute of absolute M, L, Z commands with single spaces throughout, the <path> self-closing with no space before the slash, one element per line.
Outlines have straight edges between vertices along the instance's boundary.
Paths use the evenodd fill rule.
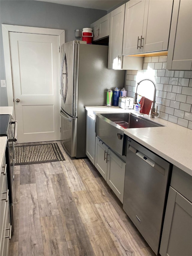
<path fill-rule="evenodd" d="M 98 137 L 95 143 L 95 167 L 123 203 L 125 162 L 110 150 Z"/>

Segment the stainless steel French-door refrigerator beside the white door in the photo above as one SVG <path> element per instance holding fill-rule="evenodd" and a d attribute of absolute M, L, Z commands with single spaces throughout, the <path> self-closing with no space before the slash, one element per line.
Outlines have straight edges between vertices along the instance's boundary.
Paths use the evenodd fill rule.
<path fill-rule="evenodd" d="M 61 54 L 61 143 L 71 157 L 83 158 L 85 106 L 105 105 L 107 89 L 122 88 L 125 71 L 107 69 L 108 46 L 71 41 Z"/>

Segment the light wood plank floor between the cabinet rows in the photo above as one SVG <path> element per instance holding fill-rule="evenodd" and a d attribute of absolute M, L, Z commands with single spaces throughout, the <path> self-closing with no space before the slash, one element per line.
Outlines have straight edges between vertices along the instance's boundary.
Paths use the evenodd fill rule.
<path fill-rule="evenodd" d="M 155 256 L 92 163 L 56 142 L 65 161 L 15 168 L 9 255 Z"/>

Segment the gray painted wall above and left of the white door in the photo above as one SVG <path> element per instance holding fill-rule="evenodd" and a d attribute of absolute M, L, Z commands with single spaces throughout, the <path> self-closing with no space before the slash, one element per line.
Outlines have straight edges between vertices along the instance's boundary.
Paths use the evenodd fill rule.
<path fill-rule="evenodd" d="M 90 24 L 107 14 L 107 11 L 59 5 L 32 0 L 1 0 L 1 24 L 64 29 L 65 42 L 75 40 L 75 29 L 89 28 Z M 0 79 L 5 80 L 5 66 L 0 35 Z M 7 88 L 0 87 L 0 106 L 7 106 Z"/>

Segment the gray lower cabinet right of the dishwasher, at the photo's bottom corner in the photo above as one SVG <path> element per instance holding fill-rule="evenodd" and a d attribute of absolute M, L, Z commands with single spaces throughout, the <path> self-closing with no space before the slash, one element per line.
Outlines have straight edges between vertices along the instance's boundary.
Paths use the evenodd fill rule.
<path fill-rule="evenodd" d="M 191 191 L 192 177 L 179 168 L 173 167 L 161 238 L 161 256 L 192 255 Z"/>

